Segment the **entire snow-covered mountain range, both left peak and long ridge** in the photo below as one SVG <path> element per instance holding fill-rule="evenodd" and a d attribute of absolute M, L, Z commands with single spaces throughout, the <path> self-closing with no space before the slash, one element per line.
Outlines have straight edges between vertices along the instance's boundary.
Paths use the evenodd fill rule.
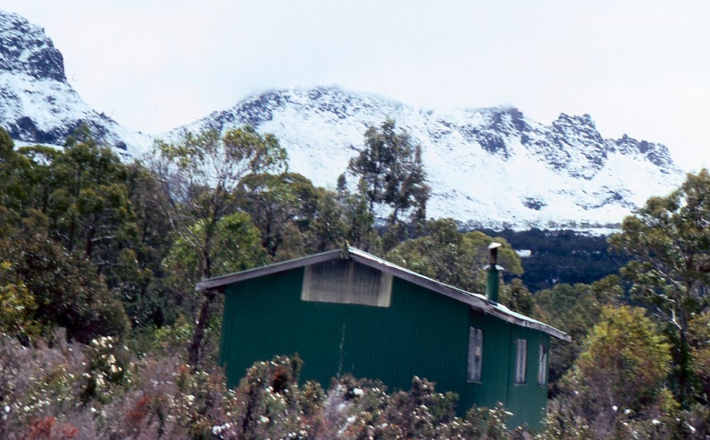
<path fill-rule="evenodd" d="M 422 145 L 429 216 L 466 226 L 601 232 L 682 181 L 665 146 L 605 139 L 589 115 L 561 114 L 547 126 L 514 108 L 435 111 L 337 87 L 257 94 L 160 137 L 249 123 L 279 138 L 291 170 L 334 187 L 368 126 L 387 118 Z M 0 126 L 21 143 L 61 145 L 80 123 L 126 156 L 153 140 L 91 109 L 67 83 L 43 28 L 0 11 Z"/>

